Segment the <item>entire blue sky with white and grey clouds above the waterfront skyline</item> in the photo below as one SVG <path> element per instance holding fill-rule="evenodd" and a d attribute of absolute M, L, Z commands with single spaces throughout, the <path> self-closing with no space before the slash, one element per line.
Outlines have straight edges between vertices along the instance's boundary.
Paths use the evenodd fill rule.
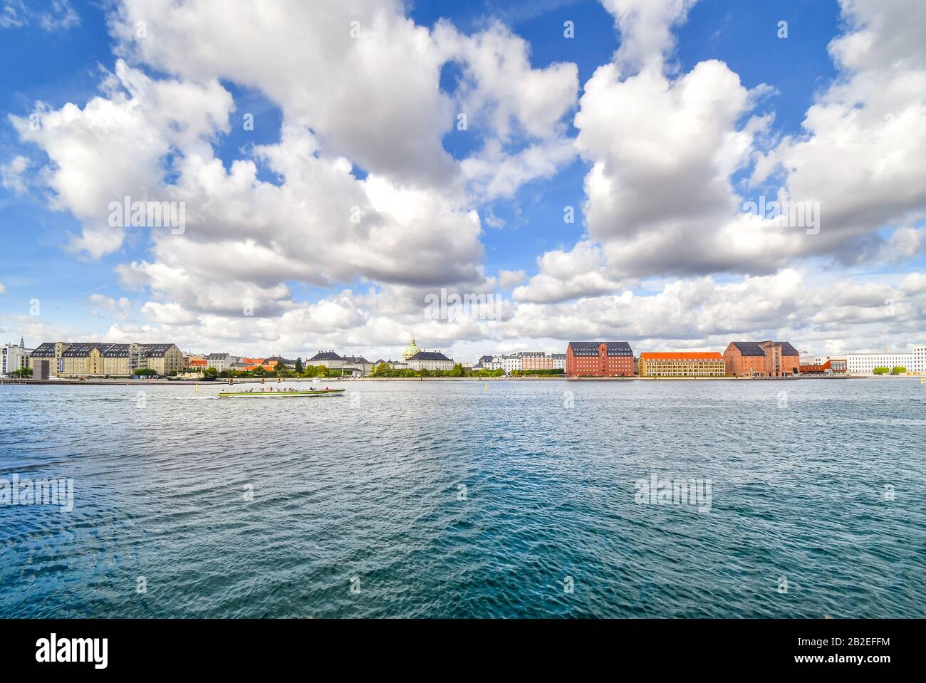
<path fill-rule="evenodd" d="M 921 0 L 0 0 L 0 342 L 907 350 L 924 25 Z"/>

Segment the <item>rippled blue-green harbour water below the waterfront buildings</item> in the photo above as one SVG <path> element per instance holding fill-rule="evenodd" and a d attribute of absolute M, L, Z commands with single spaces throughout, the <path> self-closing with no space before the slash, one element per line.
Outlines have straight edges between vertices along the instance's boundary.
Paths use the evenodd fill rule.
<path fill-rule="evenodd" d="M 0 386 L 0 616 L 926 616 L 918 381 L 341 386 Z"/>

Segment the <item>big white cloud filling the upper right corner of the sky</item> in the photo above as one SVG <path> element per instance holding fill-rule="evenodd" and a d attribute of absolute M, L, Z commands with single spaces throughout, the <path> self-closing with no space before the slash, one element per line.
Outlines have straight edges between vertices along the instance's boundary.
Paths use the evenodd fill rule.
<path fill-rule="evenodd" d="M 926 215 L 926 6 L 917 0 L 844 0 L 846 32 L 830 43 L 839 77 L 807 109 L 754 180 L 777 171 L 793 201 L 818 202 L 816 245 L 844 263 L 922 249 L 909 224 Z M 838 168 L 838 172 L 833 172 Z M 821 249 L 814 249 L 820 253 Z"/>

